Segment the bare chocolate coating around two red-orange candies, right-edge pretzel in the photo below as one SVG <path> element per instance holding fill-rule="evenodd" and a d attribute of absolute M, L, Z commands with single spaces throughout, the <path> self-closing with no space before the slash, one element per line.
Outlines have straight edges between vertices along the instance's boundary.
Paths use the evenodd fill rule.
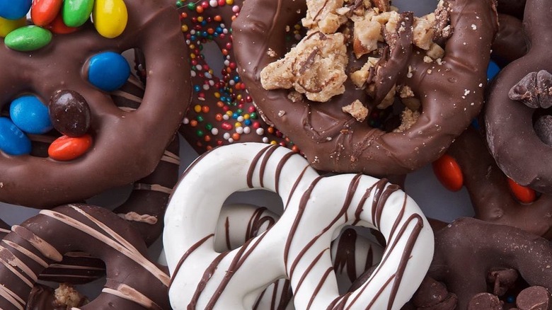
<path fill-rule="evenodd" d="M 483 137 L 473 127 L 456 139 L 447 154 L 454 157 L 462 170 L 478 219 L 552 238 L 552 218 L 546 216 L 552 212 L 552 197 L 542 194 L 534 202 L 519 202 L 510 192 L 507 176 L 500 171 Z"/>

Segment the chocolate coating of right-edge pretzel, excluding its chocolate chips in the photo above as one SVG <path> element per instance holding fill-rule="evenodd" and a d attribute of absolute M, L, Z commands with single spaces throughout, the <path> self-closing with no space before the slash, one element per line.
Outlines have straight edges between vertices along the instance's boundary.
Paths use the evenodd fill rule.
<path fill-rule="evenodd" d="M 500 71 L 485 105 L 488 146 L 498 166 L 517 183 L 542 193 L 552 193 L 552 166 L 543 164 L 552 161 L 552 149 L 534 132 L 535 110 L 513 101 L 508 92 L 531 72 L 552 72 L 548 57 L 551 10 L 551 1 L 527 1 L 523 26 L 529 52 Z M 528 160 L 527 150 L 531 150 L 531 158 L 539 160 Z"/>

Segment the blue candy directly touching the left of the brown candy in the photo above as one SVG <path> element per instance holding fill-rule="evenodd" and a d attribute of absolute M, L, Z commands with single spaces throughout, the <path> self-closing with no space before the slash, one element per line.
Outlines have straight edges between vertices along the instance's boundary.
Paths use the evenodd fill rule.
<path fill-rule="evenodd" d="M 43 134 L 52 130 L 48 108 L 36 96 L 21 96 L 11 102 L 10 117 L 23 132 Z"/>

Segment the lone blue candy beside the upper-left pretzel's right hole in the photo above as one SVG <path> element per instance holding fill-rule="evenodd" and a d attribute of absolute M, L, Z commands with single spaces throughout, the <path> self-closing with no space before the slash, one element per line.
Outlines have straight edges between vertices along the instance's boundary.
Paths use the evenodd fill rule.
<path fill-rule="evenodd" d="M 116 52 L 95 54 L 88 62 L 88 81 L 103 91 L 115 91 L 130 76 L 127 59 Z"/>

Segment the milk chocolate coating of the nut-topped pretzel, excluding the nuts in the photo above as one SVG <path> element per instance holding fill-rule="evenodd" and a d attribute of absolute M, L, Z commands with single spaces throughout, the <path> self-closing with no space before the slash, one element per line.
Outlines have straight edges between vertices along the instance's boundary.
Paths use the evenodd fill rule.
<path fill-rule="evenodd" d="M 260 84 L 260 71 L 285 54 L 286 30 L 305 11 L 305 1 L 246 1 L 233 33 L 238 69 L 253 100 L 315 168 L 374 176 L 408 173 L 437 159 L 481 110 L 486 83 L 481 68 L 487 67 L 498 28 L 493 1 L 445 1 L 439 15 L 448 14 L 453 33 L 441 62 L 424 62 L 425 52 L 410 43 L 412 15 L 401 14 L 396 45 L 374 70 L 376 99 L 347 80 L 345 93 L 325 103 L 297 98 L 287 90 L 267 91 Z M 441 30 L 450 28 L 442 25 Z M 318 37 L 324 40 L 326 35 Z M 348 55 L 349 67 L 362 66 L 352 52 Z M 421 101 L 421 115 L 410 129 L 384 132 L 343 112 L 357 99 L 370 107 L 379 104 L 393 84 L 408 86 Z"/>

